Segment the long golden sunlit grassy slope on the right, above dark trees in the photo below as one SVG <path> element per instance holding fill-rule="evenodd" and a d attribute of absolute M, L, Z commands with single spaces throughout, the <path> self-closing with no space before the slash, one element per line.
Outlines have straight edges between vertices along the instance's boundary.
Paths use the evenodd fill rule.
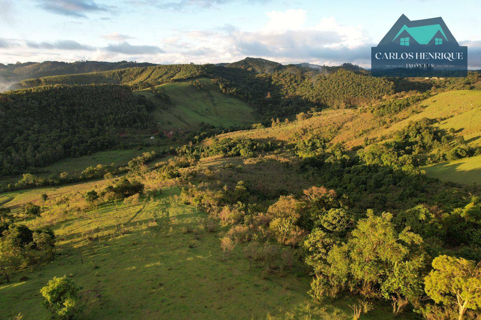
<path fill-rule="evenodd" d="M 421 107 L 423 106 L 423 107 Z M 355 109 L 325 110 L 314 117 L 294 121 L 266 129 L 245 130 L 218 135 L 222 137 L 251 137 L 258 139 L 289 141 L 293 135 L 304 135 L 313 130 L 336 129 L 332 143 L 342 143 L 347 150 L 363 144 L 366 137 L 390 137 L 411 121 L 422 118 L 438 119 L 435 127 L 447 130 L 454 128 L 456 135 L 464 135 L 472 147 L 481 146 L 481 90 L 458 90 L 440 93 L 421 101 L 418 106 L 408 108 L 396 115 L 396 120 L 382 124 L 380 118 Z M 213 139 L 204 144 L 209 145 Z"/>

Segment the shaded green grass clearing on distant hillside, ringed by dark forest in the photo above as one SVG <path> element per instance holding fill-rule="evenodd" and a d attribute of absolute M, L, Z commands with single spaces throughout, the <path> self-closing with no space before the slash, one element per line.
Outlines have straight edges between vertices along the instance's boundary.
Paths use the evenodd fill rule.
<path fill-rule="evenodd" d="M 198 80 L 203 81 L 207 89 L 198 89 L 190 85 L 190 81 L 173 82 L 156 87 L 165 92 L 174 104 L 168 109 L 159 107 L 152 111 L 153 119 L 162 122 L 163 130 L 180 128 L 181 131 L 188 131 L 199 127 L 201 122 L 226 127 L 255 122 L 253 109 L 245 102 L 218 92 L 208 78 L 198 78 Z M 142 94 L 154 103 L 161 104 L 150 89 L 134 91 L 134 94 Z"/>

